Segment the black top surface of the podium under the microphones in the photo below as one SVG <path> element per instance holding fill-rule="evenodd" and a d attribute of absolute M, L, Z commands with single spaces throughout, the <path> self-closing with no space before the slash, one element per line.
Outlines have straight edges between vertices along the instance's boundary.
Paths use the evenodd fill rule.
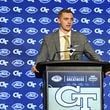
<path fill-rule="evenodd" d="M 110 63 L 109 62 L 98 62 L 98 61 L 46 61 L 46 62 L 40 62 L 36 65 L 36 68 L 42 73 L 42 71 L 46 70 L 46 67 L 49 66 L 78 66 L 78 67 L 90 67 L 90 66 L 100 66 L 102 67 L 102 71 L 106 73 L 107 71 L 110 71 Z"/>

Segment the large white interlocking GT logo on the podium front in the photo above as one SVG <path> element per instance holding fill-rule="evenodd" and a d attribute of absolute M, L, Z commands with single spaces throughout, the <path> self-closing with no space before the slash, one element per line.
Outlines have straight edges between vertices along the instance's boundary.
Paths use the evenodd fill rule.
<path fill-rule="evenodd" d="M 91 110 L 90 101 L 97 100 L 96 93 L 81 93 L 79 86 L 64 86 L 55 94 L 56 102 L 63 107 L 79 107 L 80 110 Z"/>

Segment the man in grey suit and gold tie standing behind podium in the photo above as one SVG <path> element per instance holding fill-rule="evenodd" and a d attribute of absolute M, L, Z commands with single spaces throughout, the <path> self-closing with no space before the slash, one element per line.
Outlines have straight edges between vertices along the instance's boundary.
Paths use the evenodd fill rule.
<path fill-rule="evenodd" d="M 33 72 L 39 72 L 37 63 L 50 60 L 82 60 L 83 54 L 91 61 L 102 61 L 90 46 L 86 37 L 79 32 L 72 31 L 73 13 L 71 10 L 63 9 L 58 14 L 59 30 L 47 35 L 41 46 L 36 64 L 32 66 Z M 65 50 L 65 37 L 68 36 L 68 47 Z M 65 59 L 65 53 L 68 53 Z"/>

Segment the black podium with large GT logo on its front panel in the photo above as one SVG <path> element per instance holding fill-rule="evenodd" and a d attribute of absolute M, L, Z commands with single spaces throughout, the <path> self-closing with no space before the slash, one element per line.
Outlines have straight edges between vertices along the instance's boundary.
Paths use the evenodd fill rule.
<path fill-rule="evenodd" d="M 44 110 L 103 110 L 103 78 L 107 62 L 48 61 L 43 74 Z"/>

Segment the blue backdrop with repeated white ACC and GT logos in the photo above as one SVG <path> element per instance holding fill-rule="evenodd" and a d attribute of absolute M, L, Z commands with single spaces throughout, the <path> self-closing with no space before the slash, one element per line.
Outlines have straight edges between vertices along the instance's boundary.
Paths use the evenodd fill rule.
<path fill-rule="evenodd" d="M 0 110 L 42 110 L 42 79 L 31 66 L 63 8 L 75 13 L 73 30 L 110 62 L 110 0 L 0 0 Z M 110 110 L 109 81 L 104 78 L 104 110 Z"/>

